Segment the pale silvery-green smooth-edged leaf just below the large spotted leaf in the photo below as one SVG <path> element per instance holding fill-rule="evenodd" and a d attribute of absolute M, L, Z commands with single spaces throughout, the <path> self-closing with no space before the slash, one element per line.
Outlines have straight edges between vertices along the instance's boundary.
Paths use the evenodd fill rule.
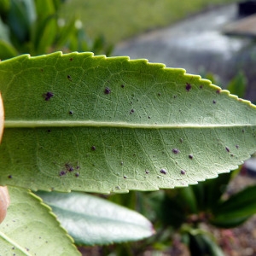
<path fill-rule="evenodd" d="M 84 193 L 37 193 L 52 208 L 76 244 L 137 241 L 154 235 L 143 215 Z"/>

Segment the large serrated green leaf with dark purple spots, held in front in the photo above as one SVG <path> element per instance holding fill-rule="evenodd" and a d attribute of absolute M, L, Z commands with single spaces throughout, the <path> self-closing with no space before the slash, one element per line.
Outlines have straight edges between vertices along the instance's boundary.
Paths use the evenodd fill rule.
<path fill-rule="evenodd" d="M 0 183 L 100 193 L 230 172 L 256 150 L 256 110 L 183 69 L 91 53 L 0 63 Z"/>

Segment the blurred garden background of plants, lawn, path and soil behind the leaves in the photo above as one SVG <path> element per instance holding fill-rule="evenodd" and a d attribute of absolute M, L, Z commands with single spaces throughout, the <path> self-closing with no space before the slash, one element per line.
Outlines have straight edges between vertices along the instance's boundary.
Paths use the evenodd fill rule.
<path fill-rule="evenodd" d="M 183 67 L 256 102 L 253 0 L 0 0 L 0 18 L 2 61 L 57 50 L 129 55 Z M 104 196 L 143 213 L 156 234 L 133 243 L 81 246 L 80 251 L 256 255 L 255 166 L 251 159 L 231 174 L 189 188 Z"/>

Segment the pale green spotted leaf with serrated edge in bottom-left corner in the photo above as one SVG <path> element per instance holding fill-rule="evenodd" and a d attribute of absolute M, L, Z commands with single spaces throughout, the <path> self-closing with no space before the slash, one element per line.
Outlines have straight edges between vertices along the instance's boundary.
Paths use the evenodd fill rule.
<path fill-rule="evenodd" d="M 1 255 L 80 255 L 38 196 L 9 187 L 10 206 L 0 224 Z"/>

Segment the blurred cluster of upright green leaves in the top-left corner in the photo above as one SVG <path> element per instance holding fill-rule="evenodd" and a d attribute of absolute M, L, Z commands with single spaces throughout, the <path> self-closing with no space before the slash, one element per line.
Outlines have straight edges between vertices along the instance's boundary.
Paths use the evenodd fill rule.
<path fill-rule="evenodd" d="M 102 36 L 90 39 L 75 15 L 70 20 L 61 17 L 62 5 L 61 0 L 1 0 L 0 59 L 55 50 L 110 55 L 113 45 L 107 44 Z"/>

